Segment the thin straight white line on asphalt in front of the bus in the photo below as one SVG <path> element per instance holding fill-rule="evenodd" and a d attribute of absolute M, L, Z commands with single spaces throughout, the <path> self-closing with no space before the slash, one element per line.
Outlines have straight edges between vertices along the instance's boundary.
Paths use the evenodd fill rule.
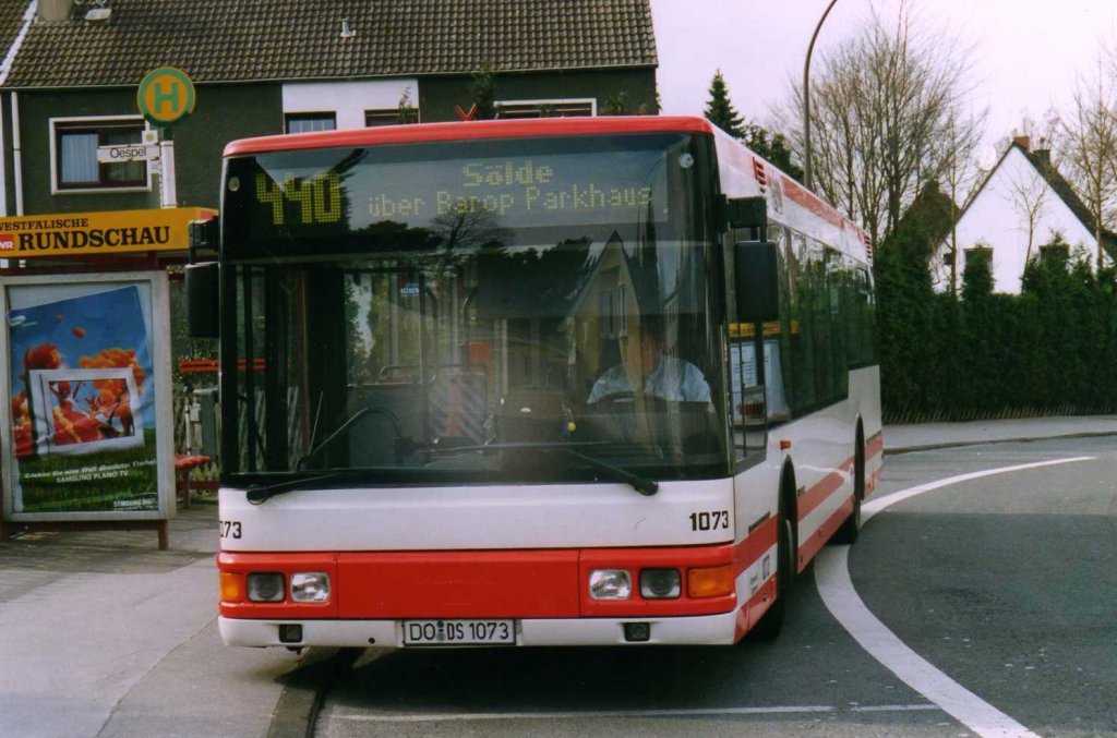
<path fill-rule="evenodd" d="M 911 712 L 937 710 L 935 705 L 880 705 L 848 708 L 850 712 Z M 732 715 L 817 715 L 838 712 L 839 708 L 828 706 L 800 707 L 724 707 L 678 710 L 586 710 L 584 712 L 443 712 L 435 715 L 331 715 L 331 720 L 353 722 L 465 722 L 470 720 L 576 720 L 599 718 L 679 718 L 697 716 Z"/>

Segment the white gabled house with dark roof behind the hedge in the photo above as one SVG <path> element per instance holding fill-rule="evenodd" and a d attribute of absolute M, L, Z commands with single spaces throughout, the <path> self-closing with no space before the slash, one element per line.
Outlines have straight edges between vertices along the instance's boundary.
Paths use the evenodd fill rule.
<path fill-rule="evenodd" d="M 951 284 L 951 259 L 957 275 L 965 260 L 981 250 L 992 259 L 993 289 L 1020 293 L 1024 267 L 1040 248 L 1057 238 L 1097 262 L 1095 219 L 1070 183 L 1051 163 L 1046 148 L 1032 150 L 1027 136 L 1012 141 L 958 215 L 954 234 L 938 246 L 936 281 Z M 955 241 L 952 241 L 956 239 Z M 951 248 L 952 243 L 956 248 Z M 1117 253 L 1117 234 L 1102 229 L 1101 250 L 1109 259 Z"/>

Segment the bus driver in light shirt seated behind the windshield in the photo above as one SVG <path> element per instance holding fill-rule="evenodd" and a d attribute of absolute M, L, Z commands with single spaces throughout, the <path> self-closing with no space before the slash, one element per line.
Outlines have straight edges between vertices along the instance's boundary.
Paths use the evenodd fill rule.
<path fill-rule="evenodd" d="M 621 338 L 621 363 L 598 377 L 588 403 L 622 392 L 648 394 L 671 402 L 709 402 L 709 384 L 701 370 L 665 354 L 667 339 L 659 316 L 645 316 L 637 330 Z"/>

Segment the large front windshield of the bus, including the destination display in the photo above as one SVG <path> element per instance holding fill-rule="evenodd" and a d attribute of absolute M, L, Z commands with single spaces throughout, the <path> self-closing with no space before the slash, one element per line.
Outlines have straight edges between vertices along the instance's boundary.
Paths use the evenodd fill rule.
<path fill-rule="evenodd" d="M 231 159 L 227 470 L 725 475 L 707 162 L 684 134 Z"/>

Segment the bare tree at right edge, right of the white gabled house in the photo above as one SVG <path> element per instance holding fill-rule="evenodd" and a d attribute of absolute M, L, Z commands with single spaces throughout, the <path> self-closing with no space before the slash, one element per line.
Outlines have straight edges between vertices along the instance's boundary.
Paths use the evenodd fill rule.
<path fill-rule="evenodd" d="M 1061 132 L 1063 166 L 1090 211 L 1100 269 L 1102 234 L 1111 222 L 1109 215 L 1117 197 L 1117 83 L 1100 59 L 1092 79 L 1079 77 Z"/>

